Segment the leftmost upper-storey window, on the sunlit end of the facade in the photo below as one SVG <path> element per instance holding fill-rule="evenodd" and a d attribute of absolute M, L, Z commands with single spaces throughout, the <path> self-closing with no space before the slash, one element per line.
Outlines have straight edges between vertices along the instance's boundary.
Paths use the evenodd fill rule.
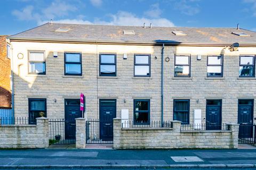
<path fill-rule="evenodd" d="M 45 74 L 45 52 L 29 51 L 28 57 L 28 73 L 29 74 Z"/>

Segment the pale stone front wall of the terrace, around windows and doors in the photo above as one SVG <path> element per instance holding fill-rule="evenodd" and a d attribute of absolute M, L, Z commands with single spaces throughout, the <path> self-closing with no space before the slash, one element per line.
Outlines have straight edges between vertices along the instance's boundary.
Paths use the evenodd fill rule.
<path fill-rule="evenodd" d="M 129 109 L 133 118 L 133 99 L 150 99 L 150 120 L 161 119 L 161 46 L 95 45 L 69 43 L 29 43 L 12 41 L 15 116 L 28 116 L 28 98 L 47 98 L 47 117 L 64 117 L 64 99 L 85 95 L 87 118 L 99 118 L 99 99 L 117 99 L 117 117 Z M 223 47 L 165 46 L 164 119 L 172 120 L 173 99 L 190 99 L 190 123 L 193 110 L 202 109 L 205 118 L 206 99 L 222 99 L 222 123 L 237 122 L 238 98 L 254 99 L 256 79 L 238 79 L 239 55 L 255 54 L 256 48 L 240 47 L 229 52 Z M 45 50 L 46 75 L 28 75 L 28 50 Z M 53 52 L 58 52 L 58 58 Z M 64 76 L 64 53 L 82 53 L 82 77 Z M 223 78 L 206 78 L 207 55 L 224 54 Z M 19 60 L 18 53 L 24 54 Z M 99 77 L 99 54 L 117 54 L 117 77 Z M 123 53 L 127 60 L 123 60 Z M 133 77 L 134 54 L 151 54 L 151 77 Z M 191 54 L 191 78 L 174 77 L 174 54 Z M 196 55 L 202 55 L 197 61 Z M 154 57 L 157 57 L 155 60 Z M 54 103 L 54 99 L 57 102 Z M 124 99 L 126 103 L 124 103 Z M 199 99 L 199 103 L 196 100 Z M 254 117 L 256 117 L 254 109 Z M 256 121 L 254 121 L 256 122 Z M 204 122 L 203 122 L 204 123 Z"/>

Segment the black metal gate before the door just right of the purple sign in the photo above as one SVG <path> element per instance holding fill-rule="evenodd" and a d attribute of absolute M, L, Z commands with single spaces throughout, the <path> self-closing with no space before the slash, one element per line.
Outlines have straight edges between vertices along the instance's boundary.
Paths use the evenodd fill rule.
<path fill-rule="evenodd" d="M 113 144 L 113 120 L 86 121 L 86 143 Z"/>

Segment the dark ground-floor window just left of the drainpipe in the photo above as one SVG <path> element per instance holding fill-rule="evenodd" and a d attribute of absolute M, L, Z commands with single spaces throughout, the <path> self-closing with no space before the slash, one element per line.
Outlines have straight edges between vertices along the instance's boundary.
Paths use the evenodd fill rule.
<path fill-rule="evenodd" d="M 134 99 L 133 105 L 134 124 L 149 124 L 150 100 Z"/>

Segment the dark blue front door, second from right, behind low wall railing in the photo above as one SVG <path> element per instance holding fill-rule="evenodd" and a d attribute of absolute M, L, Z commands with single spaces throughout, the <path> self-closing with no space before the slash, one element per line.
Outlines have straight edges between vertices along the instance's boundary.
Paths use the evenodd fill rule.
<path fill-rule="evenodd" d="M 221 129 L 221 100 L 206 100 L 206 130 Z"/>

